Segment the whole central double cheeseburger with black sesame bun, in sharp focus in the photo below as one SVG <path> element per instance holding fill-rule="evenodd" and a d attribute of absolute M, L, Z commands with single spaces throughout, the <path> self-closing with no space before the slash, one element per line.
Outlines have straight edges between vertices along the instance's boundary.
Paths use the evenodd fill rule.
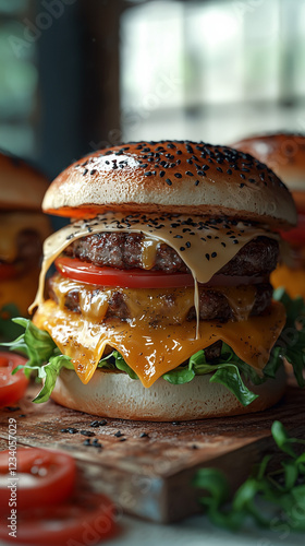
<path fill-rule="evenodd" d="M 130 143 L 71 165 L 42 207 L 73 218 L 45 242 L 33 304 L 57 371 L 63 355 L 54 401 L 173 420 L 280 399 L 285 311 L 269 275 L 296 212 L 269 168 L 202 142 Z"/>

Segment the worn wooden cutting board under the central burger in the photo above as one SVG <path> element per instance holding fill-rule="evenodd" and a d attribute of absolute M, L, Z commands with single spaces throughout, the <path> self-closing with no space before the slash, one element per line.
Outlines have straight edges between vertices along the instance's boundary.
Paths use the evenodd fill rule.
<path fill-rule="evenodd" d="M 253 415 L 184 423 L 107 418 L 98 427 L 90 424 L 101 417 L 52 401 L 36 405 L 28 396 L 17 408 L 0 411 L 0 448 L 8 447 L 9 418 L 14 417 L 19 446 L 69 451 L 93 487 L 108 494 L 119 510 L 164 523 L 198 512 L 199 491 L 192 486 L 198 468 L 221 468 L 234 490 L 267 452 L 277 452 L 273 420 L 305 438 L 304 416 L 305 393 L 293 385 L 277 406 Z"/>

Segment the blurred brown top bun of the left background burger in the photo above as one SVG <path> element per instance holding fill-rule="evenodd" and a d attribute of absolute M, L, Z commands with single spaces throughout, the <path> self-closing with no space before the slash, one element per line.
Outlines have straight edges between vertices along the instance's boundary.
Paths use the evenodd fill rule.
<path fill-rule="evenodd" d="M 0 152 L 0 210 L 41 211 L 48 181 L 22 159 Z"/>

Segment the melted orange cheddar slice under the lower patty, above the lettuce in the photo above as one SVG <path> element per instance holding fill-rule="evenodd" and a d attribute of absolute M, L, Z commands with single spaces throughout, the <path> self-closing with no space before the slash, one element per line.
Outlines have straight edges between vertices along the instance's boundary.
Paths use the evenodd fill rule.
<path fill-rule="evenodd" d="M 281 304 L 274 302 L 261 317 L 245 321 L 160 325 L 151 328 L 147 321 L 114 321 L 98 323 L 75 312 L 62 310 L 53 300 L 47 300 L 35 313 L 34 324 L 47 330 L 60 351 L 70 356 L 83 383 L 93 377 L 107 346 L 121 353 L 137 373 L 144 387 L 150 387 L 160 376 L 187 360 L 191 355 L 221 340 L 245 363 L 258 372 L 268 363 L 270 351 L 285 323 Z"/>

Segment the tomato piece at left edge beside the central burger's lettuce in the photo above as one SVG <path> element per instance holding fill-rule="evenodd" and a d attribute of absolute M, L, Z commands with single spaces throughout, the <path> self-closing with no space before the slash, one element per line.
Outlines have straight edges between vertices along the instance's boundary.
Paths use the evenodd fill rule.
<path fill-rule="evenodd" d="M 14 353 L 0 353 L 0 407 L 14 404 L 25 393 L 28 379 L 23 370 L 12 376 L 12 371 L 20 365 L 24 365 L 26 358 Z"/>

